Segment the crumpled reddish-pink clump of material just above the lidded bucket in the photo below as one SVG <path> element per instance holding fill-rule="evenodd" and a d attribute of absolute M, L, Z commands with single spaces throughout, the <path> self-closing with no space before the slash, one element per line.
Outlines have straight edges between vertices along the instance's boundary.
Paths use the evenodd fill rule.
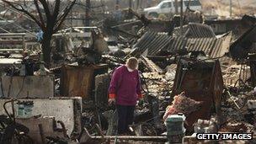
<path fill-rule="evenodd" d="M 195 101 L 185 96 L 185 93 L 180 93 L 173 97 L 173 104 L 169 105 L 163 115 L 163 120 L 166 120 L 168 115 L 175 115 L 178 113 L 183 113 L 188 116 L 190 113 L 196 111 L 200 108 L 203 102 Z"/>

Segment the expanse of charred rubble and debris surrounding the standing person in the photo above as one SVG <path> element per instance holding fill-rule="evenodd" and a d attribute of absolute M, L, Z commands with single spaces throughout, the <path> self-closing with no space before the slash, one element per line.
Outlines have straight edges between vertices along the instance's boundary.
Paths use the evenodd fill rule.
<path fill-rule="evenodd" d="M 177 15 L 159 20 L 131 8 L 125 13 L 132 19 L 109 14 L 97 27 L 53 35 L 49 66 L 31 35 L 0 34 L 8 47 L 0 51 L 0 143 L 200 143 L 195 133 L 216 132 L 252 133 L 253 140 L 227 143 L 255 142 L 255 19 L 240 19 L 250 28 L 237 33 L 216 32 L 213 24 L 230 24 L 221 20 L 186 22 L 181 29 Z M 21 45 L 27 45 L 23 55 Z M 136 105 L 131 133 L 117 136 L 109 83 L 131 56 L 139 59 L 144 103 Z M 170 115 L 185 130 L 172 140 Z"/>

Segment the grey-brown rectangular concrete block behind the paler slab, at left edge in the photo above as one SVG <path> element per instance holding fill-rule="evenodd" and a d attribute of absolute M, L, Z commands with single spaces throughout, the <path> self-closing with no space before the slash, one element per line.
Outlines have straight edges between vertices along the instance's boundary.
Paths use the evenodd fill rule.
<path fill-rule="evenodd" d="M 4 98 L 49 98 L 54 96 L 54 76 L 3 76 L 1 96 Z"/>

